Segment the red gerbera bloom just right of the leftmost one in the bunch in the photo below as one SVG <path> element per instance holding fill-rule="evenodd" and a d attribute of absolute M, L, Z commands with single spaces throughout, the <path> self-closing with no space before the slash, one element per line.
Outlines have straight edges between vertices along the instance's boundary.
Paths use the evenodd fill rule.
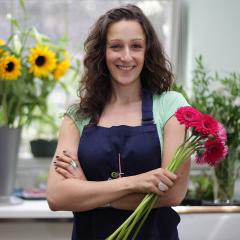
<path fill-rule="evenodd" d="M 201 120 L 196 126 L 196 132 L 199 132 L 203 135 L 213 135 L 216 137 L 218 132 L 218 121 L 208 114 L 202 114 Z"/>

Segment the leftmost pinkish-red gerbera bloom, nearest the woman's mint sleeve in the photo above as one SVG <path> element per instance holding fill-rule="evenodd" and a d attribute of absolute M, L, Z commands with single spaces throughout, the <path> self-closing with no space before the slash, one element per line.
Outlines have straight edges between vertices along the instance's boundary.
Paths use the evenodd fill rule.
<path fill-rule="evenodd" d="M 193 107 L 180 107 L 175 113 L 177 120 L 187 128 L 194 127 L 201 119 L 201 113 Z"/>

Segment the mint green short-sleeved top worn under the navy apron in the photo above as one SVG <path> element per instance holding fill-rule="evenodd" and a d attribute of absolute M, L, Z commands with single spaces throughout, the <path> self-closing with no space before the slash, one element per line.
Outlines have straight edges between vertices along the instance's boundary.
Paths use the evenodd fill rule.
<path fill-rule="evenodd" d="M 171 118 L 176 110 L 182 106 L 189 106 L 189 104 L 183 95 L 178 92 L 167 91 L 161 95 L 153 95 L 153 119 L 157 126 L 161 149 L 163 149 L 163 128 L 168 119 Z M 84 126 L 89 123 L 90 119 L 80 119 L 76 114 L 76 110 L 76 105 L 72 105 L 67 109 L 66 115 L 74 121 L 81 133 Z"/>

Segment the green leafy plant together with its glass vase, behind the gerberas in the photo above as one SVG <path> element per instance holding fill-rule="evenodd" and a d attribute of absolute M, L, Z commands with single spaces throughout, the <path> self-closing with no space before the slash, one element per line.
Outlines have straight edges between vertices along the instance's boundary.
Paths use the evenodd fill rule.
<path fill-rule="evenodd" d="M 193 94 L 190 103 L 201 112 L 217 118 L 227 129 L 227 158 L 214 168 L 214 198 L 216 203 L 233 202 L 236 161 L 240 158 L 240 75 L 206 70 L 202 56 L 196 58 L 193 71 Z"/>

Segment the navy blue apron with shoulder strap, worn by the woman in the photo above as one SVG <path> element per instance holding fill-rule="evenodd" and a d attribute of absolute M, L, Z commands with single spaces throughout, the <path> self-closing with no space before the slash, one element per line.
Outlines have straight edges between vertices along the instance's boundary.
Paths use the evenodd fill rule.
<path fill-rule="evenodd" d="M 144 173 L 161 165 L 161 149 L 153 122 L 152 94 L 142 91 L 142 125 L 84 127 L 78 158 L 89 181 L 105 181 Z M 72 240 L 103 240 L 132 213 L 114 208 L 74 212 Z M 153 209 L 138 240 L 178 240 L 178 214 L 170 207 Z M 131 239 L 131 238 L 129 238 Z"/>

